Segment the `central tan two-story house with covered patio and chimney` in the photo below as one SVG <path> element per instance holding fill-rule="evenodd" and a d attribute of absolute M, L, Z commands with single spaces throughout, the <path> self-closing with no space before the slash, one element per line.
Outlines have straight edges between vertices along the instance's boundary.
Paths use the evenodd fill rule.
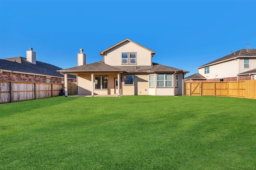
<path fill-rule="evenodd" d="M 86 55 L 80 49 L 78 66 L 59 70 L 65 82 L 67 74 L 78 76 L 78 95 L 183 94 L 184 74 L 188 71 L 153 63 L 155 51 L 151 49 L 126 39 L 100 55 L 102 61 L 86 64 Z"/>

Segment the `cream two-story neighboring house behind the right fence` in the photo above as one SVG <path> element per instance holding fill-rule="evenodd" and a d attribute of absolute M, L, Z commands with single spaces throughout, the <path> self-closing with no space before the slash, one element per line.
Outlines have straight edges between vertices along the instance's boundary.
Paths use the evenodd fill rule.
<path fill-rule="evenodd" d="M 197 68 L 184 81 L 240 81 L 256 79 L 256 49 L 240 49 Z"/>

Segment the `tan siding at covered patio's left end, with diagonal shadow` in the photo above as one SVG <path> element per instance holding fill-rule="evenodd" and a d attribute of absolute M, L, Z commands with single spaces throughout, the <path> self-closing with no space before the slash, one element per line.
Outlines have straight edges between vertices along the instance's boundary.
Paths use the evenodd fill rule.
<path fill-rule="evenodd" d="M 77 94 L 78 95 L 91 95 L 92 84 L 91 74 L 79 74 L 77 82 Z"/>

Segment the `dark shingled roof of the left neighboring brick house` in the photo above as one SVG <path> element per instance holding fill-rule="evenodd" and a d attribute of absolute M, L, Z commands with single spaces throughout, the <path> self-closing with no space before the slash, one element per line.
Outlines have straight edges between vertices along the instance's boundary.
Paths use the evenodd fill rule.
<path fill-rule="evenodd" d="M 64 77 L 57 70 L 62 68 L 56 67 L 48 63 L 36 61 L 36 64 L 32 64 L 26 61 L 24 57 L 12 57 L 7 59 L 0 59 L 0 70 L 2 71 L 16 71 L 27 74 L 37 74 L 49 77 Z M 74 75 L 68 75 L 68 78 L 76 79 Z"/>

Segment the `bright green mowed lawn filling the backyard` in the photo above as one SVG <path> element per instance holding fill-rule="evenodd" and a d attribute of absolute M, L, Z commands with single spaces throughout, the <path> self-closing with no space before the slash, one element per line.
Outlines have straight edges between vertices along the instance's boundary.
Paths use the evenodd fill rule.
<path fill-rule="evenodd" d="M 256 100 L 52 97 L 1 104 L 0 169 L 256 169 Z"/>

